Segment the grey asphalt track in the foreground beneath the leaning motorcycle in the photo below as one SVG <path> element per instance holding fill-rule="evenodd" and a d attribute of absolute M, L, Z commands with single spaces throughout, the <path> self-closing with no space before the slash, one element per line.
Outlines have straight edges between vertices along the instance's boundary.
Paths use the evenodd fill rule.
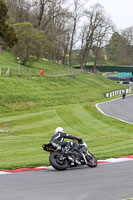
<path fill-rule="evenodd" d="M 0 200 L 121 200 L 133 197 L 133 161 L 0 176 Z"/>

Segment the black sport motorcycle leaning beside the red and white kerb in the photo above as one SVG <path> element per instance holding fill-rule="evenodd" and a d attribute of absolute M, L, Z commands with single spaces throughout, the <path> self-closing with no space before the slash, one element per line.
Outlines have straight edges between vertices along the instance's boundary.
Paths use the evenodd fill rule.
<path fill-rule="evenodd" d="M 58 150 L 51 143 L 43 144 L 43 150 L 50 153 L 49 162 L 56 170 L 66 170 L 68 167 L 76 167 L 78 165 L 87 165 L 88 167 L 96 167 L 97 159 L 88 151 L 85 142 L 80 144 L 78 141 L 70 142 L 68 147 L 61 147 Z"/>

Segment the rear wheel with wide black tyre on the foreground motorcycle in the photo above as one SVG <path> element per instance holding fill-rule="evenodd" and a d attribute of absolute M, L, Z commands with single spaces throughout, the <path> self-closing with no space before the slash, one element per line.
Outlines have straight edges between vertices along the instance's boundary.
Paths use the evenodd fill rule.
<path fill-rule="evenodd" d="M 56 170 L 66 170 L 68 167 L 67 160 L 57 151 L 50 154 L 49 162 Z"/>

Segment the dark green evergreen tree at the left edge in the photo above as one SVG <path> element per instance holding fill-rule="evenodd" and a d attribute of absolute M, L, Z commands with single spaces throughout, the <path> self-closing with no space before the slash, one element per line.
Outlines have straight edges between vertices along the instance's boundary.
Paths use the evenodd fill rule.
<path fill-rule="evenodd" d="M 17 42 L 14 30 L 6 24 L 8 20 L 7 11 L 6 5 L 0 0 L 0 53 L 4 44 L 12 47 Z"/>

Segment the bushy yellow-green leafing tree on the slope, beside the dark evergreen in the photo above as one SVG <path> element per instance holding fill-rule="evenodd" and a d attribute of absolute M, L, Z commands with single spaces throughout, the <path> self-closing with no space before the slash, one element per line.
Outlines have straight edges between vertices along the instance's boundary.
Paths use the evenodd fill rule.
<path fill-rule="evenodd" d="M 12 25 L 17 37 L 18 43 L 14 46 L 14 53 L 20 58 L 21 64 L 26 65 L 31 57 L 40 59 L 46 51 L 46 37 L 44 32 L 34 29 L 29 22 Z"/>

